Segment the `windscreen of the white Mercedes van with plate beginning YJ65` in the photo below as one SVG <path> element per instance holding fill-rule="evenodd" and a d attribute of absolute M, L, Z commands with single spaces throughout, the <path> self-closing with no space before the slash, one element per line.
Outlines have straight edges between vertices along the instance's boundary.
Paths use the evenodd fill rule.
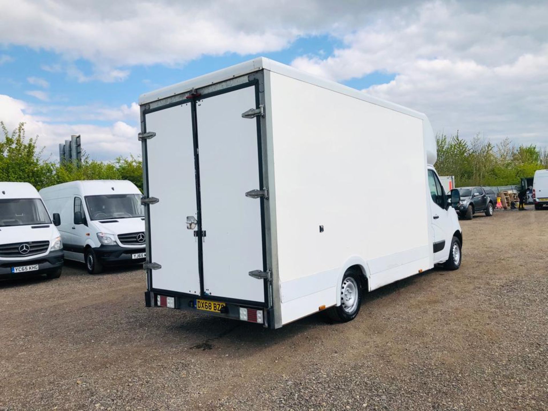
<path fill-rule="evenodd" d="M 110 218 L 133 218 L 145 215 L 139 194 L 108 194 L 86 196 L 89 218 L 105 220 Z"/>

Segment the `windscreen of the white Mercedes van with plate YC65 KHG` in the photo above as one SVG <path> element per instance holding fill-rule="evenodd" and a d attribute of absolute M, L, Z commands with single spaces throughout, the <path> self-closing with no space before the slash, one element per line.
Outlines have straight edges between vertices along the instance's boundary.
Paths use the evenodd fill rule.
<path fill-rule="evenodd" d="M 52 224 L 41 199 L 0 199 L 0 227 L 33 224 Z"/>

